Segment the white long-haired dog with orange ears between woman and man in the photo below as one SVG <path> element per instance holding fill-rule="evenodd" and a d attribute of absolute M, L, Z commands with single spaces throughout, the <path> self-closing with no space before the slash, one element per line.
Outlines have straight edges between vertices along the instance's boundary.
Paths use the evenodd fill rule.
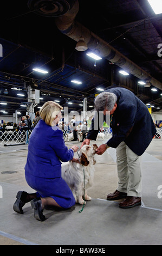
<path fill-rule="evenodd" d="M 83 145 L 79 151 L 80 163 L 62 163 L 62 178 L 72 190 L 76 203 L 86 204 L 85 200 L 92 200 L 87 195 L 87 188 L 93 185 L 94 164 L 96 163 L 94 155 L 97 148 L 98 146 L 96 144 L 92 146 Z M 85 180 L 83 170 L 85 172 Z M 84 196 L 85 198 L 83 198 Z"/>

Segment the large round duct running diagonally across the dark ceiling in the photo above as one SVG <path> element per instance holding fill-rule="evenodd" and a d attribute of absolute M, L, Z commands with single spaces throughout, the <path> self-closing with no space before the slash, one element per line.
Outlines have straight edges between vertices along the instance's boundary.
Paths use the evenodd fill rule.
<path fill-rule="evenodd" d="M 133 63 L 124 54 L 120 53 L 114 47 L 102 40 L 98 35 L 91 32 L 89 29 L 75 21 L 77 12 L 79 11 L 79 2 L 76 0 L 66 14 L 55 17 L 57 28 L 61 33 L 69 36 L 75 41 L 79 41 L 82 36 L 91 51 L 97 51 L 101 57 L 109 60 L 115 65 L 124 69 L 128 73 L 139 78 L 139 80 L 149 81 L 152 86 L 162 89 L 162 83 L 153 78 L 145 70 L 141 69 L 137 64 Z"/>

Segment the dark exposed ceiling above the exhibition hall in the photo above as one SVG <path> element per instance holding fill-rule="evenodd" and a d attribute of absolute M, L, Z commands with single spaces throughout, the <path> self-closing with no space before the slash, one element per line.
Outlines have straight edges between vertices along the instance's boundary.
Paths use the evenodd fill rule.
<path fill-rule="evenodd" d="M 46 16 L 31 9 L 33 6 L 39 9 L 42 2 L 48 2 Z M 110 86 L 132 90 L 144 103 L 154 106 L 152 112 L 162 112 L 162 14 L 155 15 L 147 0 L 79 0 L 79 10 L 74 19 L 78 30 L 76 27 L 75 36 L 70 38 L 66 35 L 69 29 L 62 33 L 56 26 L 63 16 L 49 17 L 49 14 L 53 15 L 49 2 L 57 5 L 59 15 L 62 15 L 61 12 L 66 13 L 68 5 L 73 6 L 76 1 L 1 1 L 0 44 L 3 56 L 0 57 L 0 103 L 7 105 L 0 105 L 0 111 L 5 110 L 12 115 L 17 110 L 24 115 L 26 108 L 21 105 L 28 101 L 26 88 L 30 85 L 40 90 L 43 98 L 35 112 L 49 100 L 59 100 L 61 106 L 69 107 L 69 111 L 80 112 L 84 97 L 87 97 L 87 111 L 90 111 L 95 94 L 100 93 L 96 88 L 107 89 Z M 94 36 L 94 41 L 87 38 L 85 28 Z M 88 50 L 75 50 L 81 33 L 88 50 L 98 49 L 102 55 L 96 66 L 95 61 L 86 55 Z M 100 41 L 105 44 L 102 48 Z M 115 62 L 112 53 L 108 53 L 107 47 L 111 46 L 114 47 L 113 54 L 114 49 L 119 56 L 122 54 L 120 61 Z M 133 68 L 127 77 L 119 74 L 123 58 L 137 66 L 138 72 L 134 74 Z M 33 71 L 35 64 L 49 73 Z M 142 79 L 145 72 L 149 77 Z M 141 86 L 139 76 L 140 80 L 150 81 L 151 86 Z M 82 84 L 71 82 L 76 78 Z M 21 90 L 11 89 L 14 87 Z M 152 88 L 157 91 L 153 92 Z M 5 89 L 8 94 L 4 94 Z M 18 93 L 25 96 L 18 96 Z M 68 105 L 68 101 L 73 105 Z"/>

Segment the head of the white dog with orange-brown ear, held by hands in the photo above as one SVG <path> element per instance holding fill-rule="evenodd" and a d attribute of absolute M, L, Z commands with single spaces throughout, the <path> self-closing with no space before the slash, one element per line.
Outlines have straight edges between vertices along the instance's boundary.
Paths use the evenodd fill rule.
<path fill-rule="evenodd" d="M 83 145 L 83 147 L 80 150 L 80 163 L 83 164 L 83 166 L 88 166 L 89 164 L 89 158 L 93 157 L 96 153 L 95 150 L 98 148 L 96 144 L 91 145 Z"/>

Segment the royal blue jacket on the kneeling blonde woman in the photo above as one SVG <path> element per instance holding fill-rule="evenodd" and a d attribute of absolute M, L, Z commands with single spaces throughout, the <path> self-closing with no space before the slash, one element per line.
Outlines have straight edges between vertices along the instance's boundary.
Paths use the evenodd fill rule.
<path fill-rule="evenodd" d="M 61 161 L 72 160 L 73 156 L 73 149 L 66 147 L 60 128 L 40 120 L 29 139 L 25 173 L 40 178 L 61 177 Z"/>

